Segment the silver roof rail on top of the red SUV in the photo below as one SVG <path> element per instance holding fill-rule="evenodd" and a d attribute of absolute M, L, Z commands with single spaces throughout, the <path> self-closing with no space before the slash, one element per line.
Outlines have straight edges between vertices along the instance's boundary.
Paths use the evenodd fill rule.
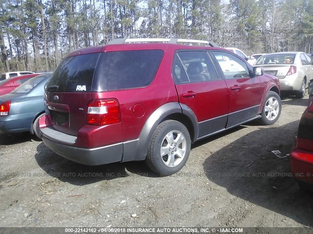
<path fill-rule="evenodd" d="M 209 46 L 212 46 L 212 47 L 220 47 L 218 44 L 212 41 L 208 41 L 208 40 L 176 39 L 176 38 L 171 38 L 171 39 L 169 38 L 134 38 L 134 39 L 119 38 L 119 39 L 113 39 L 109 41 L 108 45 L 136 43 L 136 42 L 168 42 L 170 44 L 186 42 L 186 43 L 208 44 Z"/>

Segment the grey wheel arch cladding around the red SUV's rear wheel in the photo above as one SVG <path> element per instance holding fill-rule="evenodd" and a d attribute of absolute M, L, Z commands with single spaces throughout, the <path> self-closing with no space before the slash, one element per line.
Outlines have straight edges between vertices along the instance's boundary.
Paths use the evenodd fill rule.
<path fill-rule="evenodd" d="M 122 161 L 144 160 L 156 127 L 165 120 L 177 120 L 184 124 L 188 129 L 191 141 L 195 141 L 199 132 L 198 122 L 195 114 L 189 109 L 180 105 L 179 102 L 166 103 L 157 108 L 145 122 L 138 139 L 123 143 Z"/>

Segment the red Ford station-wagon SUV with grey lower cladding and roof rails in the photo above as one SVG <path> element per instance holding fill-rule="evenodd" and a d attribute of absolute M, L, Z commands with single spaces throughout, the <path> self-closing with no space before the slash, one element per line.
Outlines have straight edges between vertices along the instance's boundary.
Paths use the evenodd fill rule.
<path fill-rule="evenodd" d="M 115 39 L 71 52 L 45 87 L 45 145 L 86 165 L 146 160 L 166 176 L 192 142 L 256 118 L 276 122 L 279 80 L 212 45 Z"/>

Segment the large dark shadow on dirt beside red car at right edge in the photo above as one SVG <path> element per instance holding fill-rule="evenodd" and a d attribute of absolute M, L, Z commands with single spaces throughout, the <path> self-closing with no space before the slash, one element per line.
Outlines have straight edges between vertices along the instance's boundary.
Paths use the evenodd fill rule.
<path fill-rule="evenodd" d="M 312 227 L 313 194 L 291 177 L 287 156 L 298 123 L 258 129 L 213 153 L 203 163 L 207 178 L 231 195 Z M 275 156 L 273 150 L 286 157 Z"/>

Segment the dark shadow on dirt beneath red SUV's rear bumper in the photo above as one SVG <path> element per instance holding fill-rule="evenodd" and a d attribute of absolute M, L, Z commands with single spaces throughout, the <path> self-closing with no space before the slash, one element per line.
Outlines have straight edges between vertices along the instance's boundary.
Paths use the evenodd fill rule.
<path fill-rule="evenodd" d="M 73 185 L 87 185 L 102 180 L 134 176 L 134 174 L 158 176 L 146 166 L 144 161 L 117 162 L 100 166 L 79 164 L 53 153 L 43 142 L 37 146 L 35 159 L 45 173 Z"/>

